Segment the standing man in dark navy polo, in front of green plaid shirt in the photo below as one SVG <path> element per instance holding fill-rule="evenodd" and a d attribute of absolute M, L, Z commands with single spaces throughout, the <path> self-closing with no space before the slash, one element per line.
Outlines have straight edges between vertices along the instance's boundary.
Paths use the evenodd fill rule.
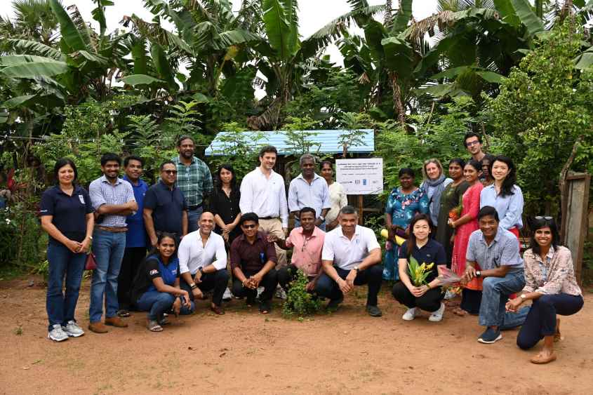
<path fill-rule="evenodd" d="M 177 166 L 173 161 L 161 164 L 161 180 L 150 187 L 144 198 L 144 223 L 152 246 L 160 232 L 175 234 L 178 239 L 187 234 L 187 202 L 175 187 Z"/>

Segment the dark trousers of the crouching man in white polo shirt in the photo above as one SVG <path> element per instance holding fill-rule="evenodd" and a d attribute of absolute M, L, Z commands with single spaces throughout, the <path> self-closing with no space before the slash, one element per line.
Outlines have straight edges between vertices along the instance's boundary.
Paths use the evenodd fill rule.
<path fill-rule="evenodd" d="M 338 272 L 338 276 L 340 276 L 342 279 L 346 279 L 350 272 L 349 270 L 340 269 L 339 267 L 334 268 L 335 271 Z M 383 268 L 380 264 L 377 264 L 362 270 L 357 275 L 357 278 L 354 279 L 355 286 L 368 284 L 368 293 L 366 295 L 367 306 L 377 305 L 377 295 L 381 289 L 382 275 Z M 326 273 L 319 276 L 317 284 L 315 284 L 315 293 L 317 293 L 319 296 L 328 297 L 331 300 L 337 300 L 344 296 L 340 290 L 340 287 L 338 286 L 338 283 L 333 281 Z"/>

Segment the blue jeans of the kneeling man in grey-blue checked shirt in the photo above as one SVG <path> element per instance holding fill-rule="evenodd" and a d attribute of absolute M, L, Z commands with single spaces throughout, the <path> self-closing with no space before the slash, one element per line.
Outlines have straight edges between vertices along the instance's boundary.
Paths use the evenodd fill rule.
<path fill-rule="evenodd" d="M 523 270 L 507 273 L 504 277 L 486 277 L 482 284 L 479 324 L 481 326 L 500 326 L 510 329 L 524 323 L 527 313 L 524 309 L 517 313 L 507 313 L 505 304 L 509 295 L 517 293 L 525 286 Z"/>

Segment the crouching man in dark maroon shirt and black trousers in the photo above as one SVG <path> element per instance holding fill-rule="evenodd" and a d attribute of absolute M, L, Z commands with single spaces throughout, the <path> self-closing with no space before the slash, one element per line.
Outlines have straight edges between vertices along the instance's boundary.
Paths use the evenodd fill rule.
<path fill-rule="evenodd" d="M 267 234 L 259 232 L 259 218 L 255 213 L 241 216 L 239 226 L 243 234 L 231 245 L 232 293 L 247 297 L 247 305 L 251 307 L 258 295 L 258 286 L 263 286 L 260 312 L 268 314 L 272 310 L 272 296 L 278 285 L 274 269 L 278 261 L 276 249 L 274 243 L 267 241 Z"/>

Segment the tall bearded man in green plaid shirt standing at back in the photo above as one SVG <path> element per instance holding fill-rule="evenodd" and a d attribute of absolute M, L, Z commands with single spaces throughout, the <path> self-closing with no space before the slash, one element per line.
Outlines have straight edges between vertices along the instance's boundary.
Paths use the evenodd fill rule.
<path fill-rule="evenodd" d="M 194 156 L 196 142 L 189 135 L 182 135 L 177 141 L 179 156 L 173 158 L 177 166 L 177 187 L 187 201 L 187 232 L 198 230 L 204 200 L 212 192 L 212 174 L 200 159 Z"/>

